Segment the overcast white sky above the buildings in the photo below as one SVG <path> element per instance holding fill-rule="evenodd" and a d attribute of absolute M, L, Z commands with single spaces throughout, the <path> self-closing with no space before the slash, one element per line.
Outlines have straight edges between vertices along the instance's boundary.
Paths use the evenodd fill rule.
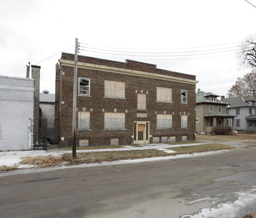
<path fill-rule="evenodd" d="M 81 55 L 193 74 L 197 89 L 218 95 L 249 72 L 234 51 L 255 34 L 256 7 L 245 0 L 0 2 L 0 75 L 26 77 L 28 62 L 39 65 L 40 92 L 55 93 L 55 65 L 62 51 L 74 54 L 75 38 Z"/>

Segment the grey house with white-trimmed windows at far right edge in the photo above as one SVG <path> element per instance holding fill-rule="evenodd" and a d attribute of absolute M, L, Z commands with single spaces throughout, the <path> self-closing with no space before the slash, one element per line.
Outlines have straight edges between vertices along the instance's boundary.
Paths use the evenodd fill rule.
<path fill-rule="evenodd" d="M 237 96 L 223 100 L 227 107 L 227 113 L 236 115 L 235 129 L 241 132 L 256 131 L 256 99 Z"/>

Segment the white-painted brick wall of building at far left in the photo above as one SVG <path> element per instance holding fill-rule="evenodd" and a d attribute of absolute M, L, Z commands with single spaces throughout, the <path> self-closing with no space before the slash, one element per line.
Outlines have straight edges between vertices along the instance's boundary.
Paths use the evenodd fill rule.
<path fill-rule="evenodd" d="M 0 151 L 28 150 L 34 80 L 0 76 Z"/>

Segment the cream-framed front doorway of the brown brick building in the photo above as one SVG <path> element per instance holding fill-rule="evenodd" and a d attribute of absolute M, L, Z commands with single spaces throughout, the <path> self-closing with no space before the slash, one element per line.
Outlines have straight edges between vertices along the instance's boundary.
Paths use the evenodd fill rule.
<path fill-rule="evenodd" d="M 134 144 L 149 144 L 149 122 L 134 122 Z"/>

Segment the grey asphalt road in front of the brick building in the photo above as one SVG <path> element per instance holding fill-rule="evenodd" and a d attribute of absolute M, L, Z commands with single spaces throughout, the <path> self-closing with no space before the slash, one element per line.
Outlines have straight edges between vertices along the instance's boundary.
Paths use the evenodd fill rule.
<path fill-rule="evenodd" d="M 24 170 L 0 174 L 0 217 L 176 218 L 232 204 L 239 198 L 237 192 L 255 185 L 256 147 Z M 256 199 L 242 205 L 237 217 L 256 213 L 255 205 Z"/>

